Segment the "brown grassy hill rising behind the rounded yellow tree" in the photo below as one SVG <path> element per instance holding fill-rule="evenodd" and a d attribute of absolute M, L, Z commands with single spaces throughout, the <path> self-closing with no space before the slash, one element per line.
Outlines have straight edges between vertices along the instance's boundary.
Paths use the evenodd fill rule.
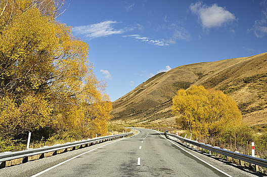
<path fill-rule="evenodd" d="M 113 102 L 114 121 L 172 124 L 171 99 L 191 84 L 230 94 L 251 125 L 267 123 L 267 53 L 183 65 L 159 73 Z"/>

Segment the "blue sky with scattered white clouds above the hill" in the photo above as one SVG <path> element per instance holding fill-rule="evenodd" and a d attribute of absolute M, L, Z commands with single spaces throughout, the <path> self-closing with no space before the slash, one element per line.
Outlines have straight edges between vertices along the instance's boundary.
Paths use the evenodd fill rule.
<path fill-rule="evenodd" d="M 66 2 L 59 21 L 90 47 L 111 101 L 158 72 L 266 52 L 267 1 Z"/>

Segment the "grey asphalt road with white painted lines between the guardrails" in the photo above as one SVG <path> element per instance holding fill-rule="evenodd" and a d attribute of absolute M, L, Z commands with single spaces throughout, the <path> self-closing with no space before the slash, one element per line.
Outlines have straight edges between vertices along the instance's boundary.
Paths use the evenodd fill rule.
<path fill-rule="evenodd" d="M 25 164 L 0 176 L 262 176 L 167 140 L 149 129 Z"/>

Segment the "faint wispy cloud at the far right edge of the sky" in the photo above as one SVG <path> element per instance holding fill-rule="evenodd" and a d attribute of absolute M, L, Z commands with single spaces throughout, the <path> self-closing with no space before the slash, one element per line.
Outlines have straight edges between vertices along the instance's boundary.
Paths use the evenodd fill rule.
<path fill-rule="evenodd" d="M 262 1 L 260 3 L 260 7 L 263 7 L 262 18 L 260 20 L 256 20 L 253 28 L 250 30 L 254 31 L 254 34 L 258 38 L 262 38 L 267 35 L 267 1 Z"/>

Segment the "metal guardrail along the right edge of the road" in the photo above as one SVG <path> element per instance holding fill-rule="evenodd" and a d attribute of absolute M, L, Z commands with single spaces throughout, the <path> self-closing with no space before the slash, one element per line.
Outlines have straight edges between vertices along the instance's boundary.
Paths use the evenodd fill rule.
<path fill-rule="evenodd" d="M 243 160 L 243 161 L 246 161 L 246 162 L 249 162 L 249 163 L 252 163 L 252 164 L 256 164 L 256 165 L 259 165 L 259 166 L 267 167 L 267 160 L 265 160 L 265 159 L 252 157 L 252 156 L 245 155 L 245 154 L 240 154 L 240 153 L 237 153 L 237 152 L 232 152 L 232 151 L 228 151 L 228 150 L 225 150 L 225 149 L 220 149 L 220 148 L 217 148 L 217 147 L 206 145 L 204 143 L 199 143 L 199 142 L 194 141 L 194 140 L 189 140 L 189 139 L 177 136 L 177 135 L 168 134 L 167 132 L 165 132 L 165 136 L 166 137 L 167 136 L 174 137 L 176 139 L 179 139 L 180 141 L 183 141 L 183 142 L 186 142 L 186 143 L 201 147 L 203 149 L 206 149 L 206 150 L 209 150 L 209 151 L 212 151 L 212 152 L 216 152 L 218 154 L 226 155 L 226 156 L 229 156 L 229 157 L 232 157 L 232 158 L 235 158 L 235 159 L 239 159 L 239 160 Z"/>

